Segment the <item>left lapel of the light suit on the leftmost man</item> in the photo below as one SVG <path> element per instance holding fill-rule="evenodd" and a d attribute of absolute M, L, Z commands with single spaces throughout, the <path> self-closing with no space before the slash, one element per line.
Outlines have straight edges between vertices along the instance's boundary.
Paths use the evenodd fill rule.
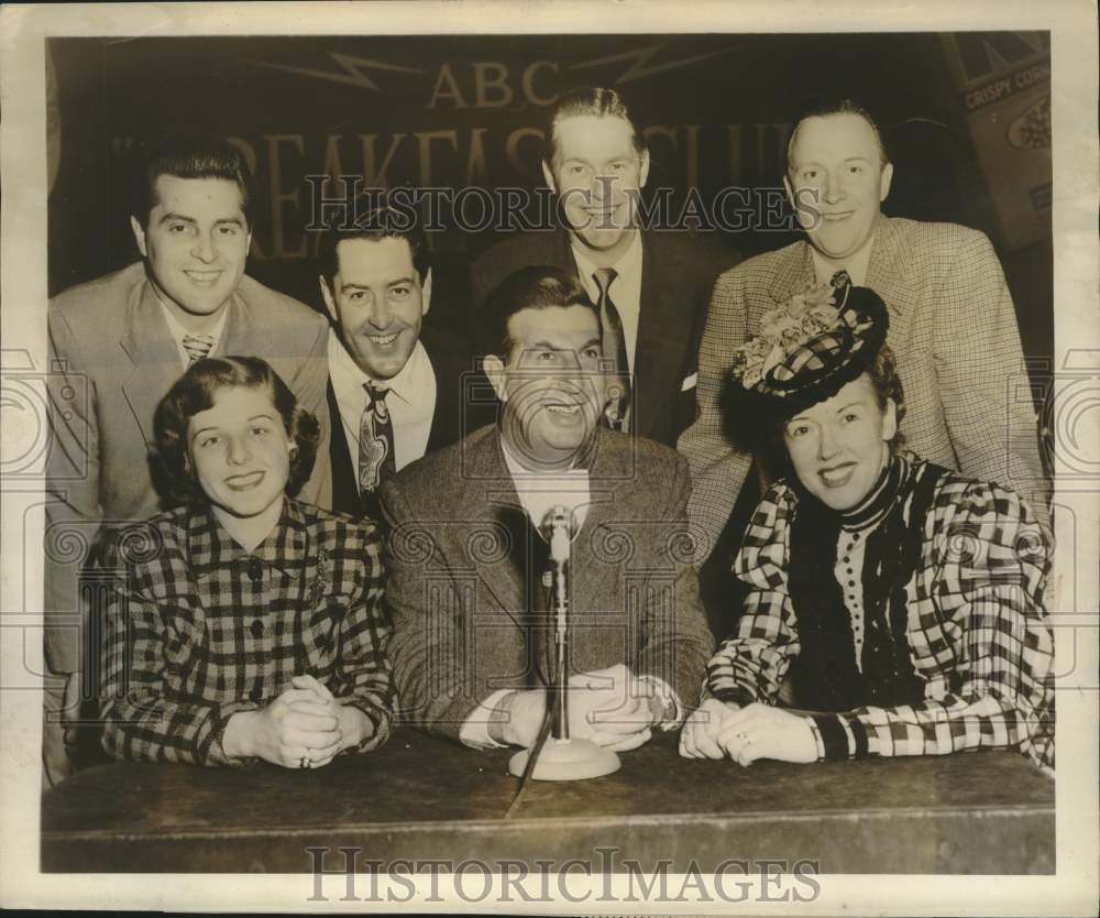
<path fill-rule="evenodd" d="M 133 363 L 133 372 L 122 384 L 122 394 L 150 448 L 156 441 L 153 430 L 156 406 L 183 373 L 179 350 L 162 308 L 148 281 L 138 284 L 130 293 L 127 331 L 119 341 Z"/>

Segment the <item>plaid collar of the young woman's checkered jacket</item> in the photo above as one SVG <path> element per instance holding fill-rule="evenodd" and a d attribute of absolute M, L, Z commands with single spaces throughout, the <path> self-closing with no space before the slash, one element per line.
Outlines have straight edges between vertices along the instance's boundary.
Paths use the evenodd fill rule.
<path fill-rule="evenodd" d="M 209 504 L 193 510 L 187 521 L 187 554 L 197 579 L 205 579 L 235 560 L 256 558 L 297 580 L 306 564 L 309 537 L 297 502 L 285 498 L 278 522 L 252 551 L 222 526 Z"/>

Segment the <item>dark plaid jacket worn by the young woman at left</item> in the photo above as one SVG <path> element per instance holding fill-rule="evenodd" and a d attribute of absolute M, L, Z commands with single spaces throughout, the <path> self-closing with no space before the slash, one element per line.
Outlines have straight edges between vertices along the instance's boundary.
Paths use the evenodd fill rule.
<path fill-rule="evenodd" d="M 243 764 L 221 740 L 311 674 L 389 734 L 394 689 L 372 523 L 286 500 L 245 551 L 209 509 L 163 513 L 120 538 L 107 616 L 103 746 L 117 758 Z"/>

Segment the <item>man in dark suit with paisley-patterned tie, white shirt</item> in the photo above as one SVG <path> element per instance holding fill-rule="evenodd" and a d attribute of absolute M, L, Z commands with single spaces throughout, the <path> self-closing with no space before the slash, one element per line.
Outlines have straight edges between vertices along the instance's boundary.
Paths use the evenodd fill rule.
<path fill-rule="evenodd" d="M 431 267 L 419 223 L 385 204 L 355 214 L 326 230 L 320 250 L 332 509 L 377 520 L 383 480 L 470 429 L 472 349 L 424 324 Z"/>

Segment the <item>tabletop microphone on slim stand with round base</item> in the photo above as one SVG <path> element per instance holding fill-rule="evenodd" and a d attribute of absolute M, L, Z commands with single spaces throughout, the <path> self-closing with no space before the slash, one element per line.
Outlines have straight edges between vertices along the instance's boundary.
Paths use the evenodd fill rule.
<path fill-rule="evenodd" d="M 548 514 L 550 523 L 550 560 L 553 562 L 553 701 L 547 711 L 552 719 L 552 736 L 546 742 L 546 730 L 530 750 L 512 756 L 508 771 L 526 783 L 536 780 L 581 780 L 609 775 L 619 769 L 619 757 L 591 740 L 569 735 L 569 556 L 572 527 L 569 512 L 556 506 Z"/>

